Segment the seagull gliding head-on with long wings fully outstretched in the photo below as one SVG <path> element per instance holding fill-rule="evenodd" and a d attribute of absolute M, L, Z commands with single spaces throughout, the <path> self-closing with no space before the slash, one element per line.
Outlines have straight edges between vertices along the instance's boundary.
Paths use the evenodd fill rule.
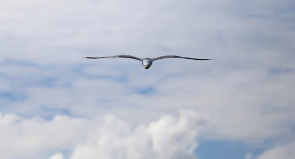
<path fill-rule="evenodd" d="M 112 58 L 112 57 L 120 57 L 120 58 L 131 58 L 131 59 L 136 59 L 142 62 L 143 66 L 145 69 L 149 69 L 149 67 L 152 65 L 152 62 L 155 60 L 159 59 L 164 59 L 164 58 L 185 58 L 185 59 L 193 59 L 193 60 L 211 60 L 212 58 L 208 59 L 203 59 L 203 58 L 191 58 L 191 57 L 183 57 L 183 56 L 177 56 L 177 55 L 166 55 L 166 56 L 160 56 L 156 58 L 139 58 L 131 55 L 125 55 L 125 54 L 120 54 L 120 55 L 115 55 L 115 56 L 104 56 L 104 57 L 83 57 L 83 58 Z"/>

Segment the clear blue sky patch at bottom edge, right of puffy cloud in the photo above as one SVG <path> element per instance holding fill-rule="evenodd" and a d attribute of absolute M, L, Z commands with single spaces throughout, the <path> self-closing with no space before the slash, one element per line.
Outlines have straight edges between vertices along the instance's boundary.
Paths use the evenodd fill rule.
<path fill-rule="evenodd" d="M 240 142 L 201 140 L 195 153 L 200 159 L 244 159 L 246 153 L 258 156 L 264 150 Z"/>

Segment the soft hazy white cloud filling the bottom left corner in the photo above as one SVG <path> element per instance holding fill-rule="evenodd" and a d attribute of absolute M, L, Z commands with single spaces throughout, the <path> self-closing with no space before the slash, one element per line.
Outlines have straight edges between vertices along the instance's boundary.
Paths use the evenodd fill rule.
<path fill-rule="evenodd" d="M 82 141 L 88 127 L 85 119 L 61 115 L 47 121 L 1 113 L 0 158 L 44 158 L 52 150 L 68 149 Z"/>

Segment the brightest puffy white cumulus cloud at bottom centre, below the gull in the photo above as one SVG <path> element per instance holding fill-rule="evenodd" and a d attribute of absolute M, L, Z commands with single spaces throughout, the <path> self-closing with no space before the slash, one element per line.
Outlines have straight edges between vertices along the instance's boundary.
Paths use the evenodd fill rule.
<path fill-rule="evenodd" d="M 158 121 L 130 130 L 128 123 L 108 116 L 106 126 L 74 150 L 71 159 L 195 159 L 201 125 L 198 114 L 180 111 L 179 119 L 164 115 Z M 95 138 L 95 140 L 93 140 Z"/>

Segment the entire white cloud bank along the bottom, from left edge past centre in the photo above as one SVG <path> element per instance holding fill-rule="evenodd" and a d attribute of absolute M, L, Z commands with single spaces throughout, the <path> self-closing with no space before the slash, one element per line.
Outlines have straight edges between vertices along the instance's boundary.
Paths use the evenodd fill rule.
<path fill-rule="evenodd" d="M 179 110 L 177 116 L 163 114 L 148 125 L 132 127 L 114 115 L 96 119 L 57 115 L 46 121 L 2 114 L 0 157 L 40 159 L 72 148 L 69 159 L 195 159 L 193 152 L 207 119 L 193 110 Z M 63 158 L 61 153 L 50 157 Z"/>

